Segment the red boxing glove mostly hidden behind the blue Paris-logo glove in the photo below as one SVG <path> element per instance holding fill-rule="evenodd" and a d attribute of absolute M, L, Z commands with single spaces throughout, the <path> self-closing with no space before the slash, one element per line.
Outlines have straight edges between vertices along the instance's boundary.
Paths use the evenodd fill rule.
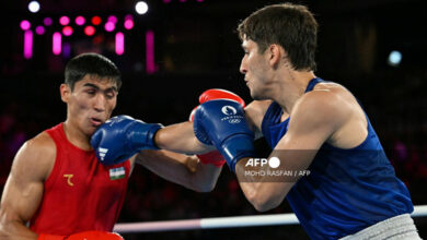
<path fill-rule="evenodd" d="M 204 104 L 209 100 L 215 99 L 231 99 L 238 101 L 242 107 L 245 107 L 244 100 L 239 97 L 239 95 L 220 88 L 212 88 L 205 91 L 198 98 L 198 101 L 200 104 Z M 197 106 L 198 107 L 198 106 Z M 194 113 L 196 112 L 197 107 L 195 107 L 189 115 L 189 121 L 194 120 Z M 226 164 L 226 160 L 223 159 L 222 155 L 218 151 L 212 151 L 206 154 L 197 155 L 198 159 L 200 159 L 201 164 L 211 164 L 218 168 L 222 167 L 222 165 Z"/>

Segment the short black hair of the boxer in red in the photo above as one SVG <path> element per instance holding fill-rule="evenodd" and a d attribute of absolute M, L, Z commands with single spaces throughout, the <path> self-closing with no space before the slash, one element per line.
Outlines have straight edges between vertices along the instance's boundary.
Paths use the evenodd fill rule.
<path fill-rule="evenodd" d="M 79 55 L 67 63 L 65 83 L 73 91 L 76 82 L 79 82 L 88 74 L 111 79 L 116 83 L 117 89 L 122 86 L 120 71 L 116 64 L 106 57 L 94 52 Z"/>

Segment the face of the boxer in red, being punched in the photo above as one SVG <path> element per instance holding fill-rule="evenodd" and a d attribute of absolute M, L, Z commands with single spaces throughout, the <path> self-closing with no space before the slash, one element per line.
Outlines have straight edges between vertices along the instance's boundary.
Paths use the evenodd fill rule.
<path fill-rule="evenodd" d="M 111 117 L 116 107 L 117 86 L 111 79 L 85 75 L 73 91 L 62 84 L 61 98 L 68 105 L 67 121 L 89 136 Z"/>

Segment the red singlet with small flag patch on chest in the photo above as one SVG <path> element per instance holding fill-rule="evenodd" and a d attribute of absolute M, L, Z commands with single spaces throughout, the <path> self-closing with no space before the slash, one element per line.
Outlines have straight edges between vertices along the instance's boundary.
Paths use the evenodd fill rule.
<path fill-rule="evenodd" d="M 103 166 L 94 151 L 80 149 L 67 140 L 62 123 L 46 132 L 55 141 L 56 160 L 30 228 L 50 235 L 112 231 L 125 200 L 129 160 Z"/>

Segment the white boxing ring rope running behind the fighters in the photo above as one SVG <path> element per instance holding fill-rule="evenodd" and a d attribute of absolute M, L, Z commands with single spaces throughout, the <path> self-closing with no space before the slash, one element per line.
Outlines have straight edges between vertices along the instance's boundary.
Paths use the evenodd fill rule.
<path fill-rule="evenodd" d="M 427 205 L 414 206 L 412 217 L 427 216 Z M 238 217 L 214 217 L 188 220 L 163 220 L 134 224 L 116 224 L 114 231 L 120 233 L 149 232 L 149 231 L 173 231 L 173 230 L 196 230 L 214 228 L 241 228 L 275 225 L 299 224 L 295 214 L 270 214 Z"/>

